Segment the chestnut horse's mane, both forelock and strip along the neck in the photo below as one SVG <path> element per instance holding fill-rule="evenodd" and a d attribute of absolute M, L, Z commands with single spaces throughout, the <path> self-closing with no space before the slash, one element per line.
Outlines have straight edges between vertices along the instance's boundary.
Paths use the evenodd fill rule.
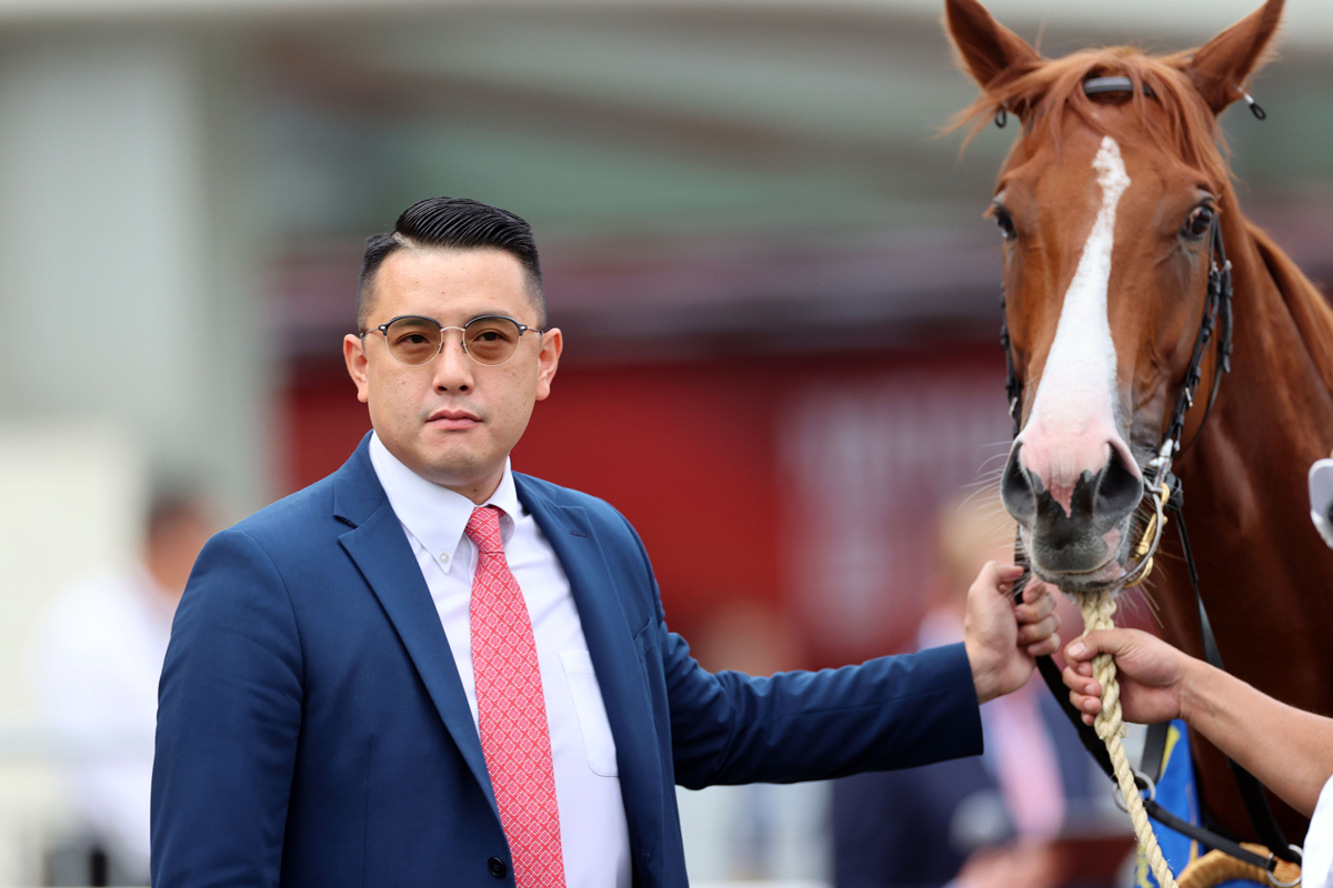
<path fill-rule="evenodd" d="M 1022 121 L 1024 140 L 1033 136 L 1052 138 L 1058 149 L 1066 116 L 1072 113 L 1093 132 L 1121 142 L 1141 140 L 1146 133 L 1162 150 L 1208 176 L 1218 196 L 1224 192 L 1234 194 L 1226 142 L 1217 117 L 1185 73 L 1190 59 L 1192 51 L 1149 56 L 1133 47 L 1108 47 L 1084 49 L 1064 59 L 1020 63 L 988 84 L 981 96 L 953 118 L 946 132 L 972 124 L 964 141 L 966 148 L 1002 109 Z M 1082 84 L 1089 77 L 1129 77 L 1134 89 L 1129 95 L 1088 96 Z M 1145 85 L 1152 97 L 1145 95 Z M 1094 113 L 1098 104 L 1124 103 L 1126 99 L 1137 113 Z M 1149 103 L 1156 103 L 1164 113 L 1149 113 Z M 1240 213 L 1238 206 L 1236 212 Z M 1245 229 L 1277 285 L 1324 385 L 1333 391 L 1333 309 L 1273 238 L 1249 221 L 1245 221 Z"/>

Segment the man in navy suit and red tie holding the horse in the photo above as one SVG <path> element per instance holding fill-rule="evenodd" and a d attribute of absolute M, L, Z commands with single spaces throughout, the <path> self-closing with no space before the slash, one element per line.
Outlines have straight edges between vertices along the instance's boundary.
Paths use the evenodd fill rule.
<path fill-rule="evenodd" d="M 1013 606 L 988 564 L 964 644 L 705 672 L 629 523 L 511 471 L 563 346 L 540 274 L 527 222 L 476 201 L 367 242 L 344 357 L 373 434 L 211 541 L 176 615 L 157 888 L 684 888 L 673 783 L 977 754 L 977 700 L 1054 650 L 1049 591 Z"/>

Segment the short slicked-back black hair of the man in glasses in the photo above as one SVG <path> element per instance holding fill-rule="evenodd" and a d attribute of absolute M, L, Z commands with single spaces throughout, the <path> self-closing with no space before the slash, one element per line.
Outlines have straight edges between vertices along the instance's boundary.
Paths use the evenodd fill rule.
<path fill-rule="evenodd" d="M 467 197 L 428 197 L 403 210 L 392 232 L 365 238 L 361 281 L 356 290 L 356 329 L 365 332 L 375 274 L 404 248 L 495 249 L 519 260 L 528 273 L 528 297 L 537 309 L 537 326 L 547 326 L 541 292 L 541 261 L 532 226 L 509 210 Z"/>

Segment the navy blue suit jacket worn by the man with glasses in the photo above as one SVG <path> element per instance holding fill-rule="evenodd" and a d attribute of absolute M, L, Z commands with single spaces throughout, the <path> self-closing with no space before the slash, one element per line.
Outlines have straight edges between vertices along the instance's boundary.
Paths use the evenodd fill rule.
<path fill-rule="evenodd" d="M 624 517 L 515 481 L 569 576 L 637 885 L 686 885 L 676 783 L 817 780 L 980 752 L 961 644 L 821 672 L 709 674 L 666 628 Z M 159 688 L 152 840 L 156 888 L 513 885 L 463 683 L 367 441 L 200 554 Z"/>

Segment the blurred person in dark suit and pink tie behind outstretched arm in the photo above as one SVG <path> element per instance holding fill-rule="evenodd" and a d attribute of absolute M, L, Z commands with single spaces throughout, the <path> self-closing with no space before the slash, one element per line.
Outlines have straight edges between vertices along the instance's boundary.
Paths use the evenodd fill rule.
<path fill-rule="evenodd" d="M 941 509 L 938 576 L 917 648 L 962 638 L 966 588 L 978 566 L 1013 551 L 1014 523 L 998 501 Z M 1078 612 L 1060 596 L 1064 624 Z M 981 707 L 985 754 L 833 784 L 837 888 L 1054 888 L 1054 841 L 1097 817 L 1105 792 L 1058 702 L 1040 682 Z"/>

